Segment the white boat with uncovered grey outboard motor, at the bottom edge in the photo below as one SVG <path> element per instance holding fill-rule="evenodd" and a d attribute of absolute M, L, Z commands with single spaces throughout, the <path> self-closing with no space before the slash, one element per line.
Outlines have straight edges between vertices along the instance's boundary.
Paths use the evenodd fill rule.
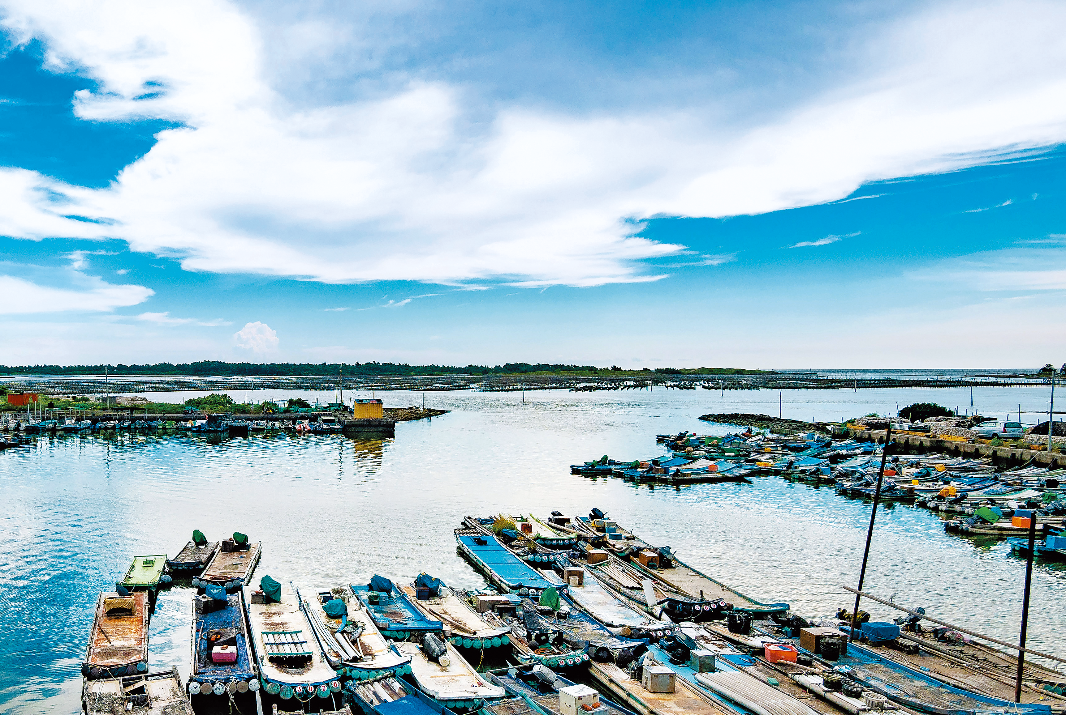
<path fill-rule="evenodd" d="M 447 656 L 436 659 L 426 651 L 424 643 L 422 646 L 416 643 L 397 646 L 410 659 L 410 679 L 422 693 L 453 712 L 474 711 L 506 695 L 501 686 L 482 678 L 454 646 L 448 641 L 441 645 Z"/>

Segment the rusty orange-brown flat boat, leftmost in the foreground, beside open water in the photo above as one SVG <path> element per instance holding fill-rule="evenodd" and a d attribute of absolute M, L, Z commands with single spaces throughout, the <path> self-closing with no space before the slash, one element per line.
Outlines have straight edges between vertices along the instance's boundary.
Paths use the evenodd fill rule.
<path fill-rule="evenodd" d="M 100 594 L 81 675 L 90 680 L 148 670 L 148 594 Z"/>

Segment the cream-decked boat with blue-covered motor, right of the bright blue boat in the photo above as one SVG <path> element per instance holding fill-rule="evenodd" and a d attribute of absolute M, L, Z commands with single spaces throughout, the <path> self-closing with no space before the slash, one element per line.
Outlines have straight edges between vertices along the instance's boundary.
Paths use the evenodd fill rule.
<path fill-rule="evenodd" d="M 439 579 L 420 573 L 414 583 L 400 589 L 426 618 L 440 621 L 451 631 L 450 640 L 456 648 L 490 650 L 494 656 L 511 652 L 510 629 L 487 623 Z"/>

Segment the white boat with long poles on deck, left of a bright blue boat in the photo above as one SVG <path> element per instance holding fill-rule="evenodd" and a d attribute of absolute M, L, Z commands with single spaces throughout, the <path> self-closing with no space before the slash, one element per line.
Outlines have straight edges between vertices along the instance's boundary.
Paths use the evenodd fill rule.
<path fill-rule="evenodd" d="M 326 662 L 342 676 L 364 681 L 410 672 L 409 659 L 385 639 L 351 588 L 304 588 L 297 596 Z"/>

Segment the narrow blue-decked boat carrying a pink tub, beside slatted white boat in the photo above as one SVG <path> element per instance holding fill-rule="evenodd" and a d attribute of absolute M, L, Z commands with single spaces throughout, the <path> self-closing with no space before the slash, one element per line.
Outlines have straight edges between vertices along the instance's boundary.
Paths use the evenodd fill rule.
<path fill-rule="evenodd" d="M 205 696 L 255 693 L 259 668 L 248 640 L 243 591 L 210 585 L 193 594 L 189 693 Z"/>

